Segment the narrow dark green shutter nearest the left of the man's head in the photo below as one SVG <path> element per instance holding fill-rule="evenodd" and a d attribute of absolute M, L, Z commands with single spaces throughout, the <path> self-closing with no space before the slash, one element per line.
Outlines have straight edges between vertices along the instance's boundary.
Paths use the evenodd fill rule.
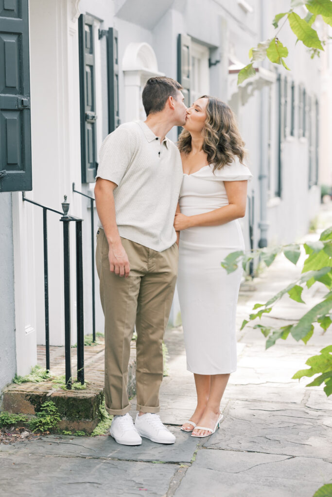
<path fill-rule="evenodd" d="M 108 94 L 109 94 L 109 133 L 120 124 L 119 118 L 119 63 L 118 36 L 114 28 L 109 28 L 107 37 Z"/>

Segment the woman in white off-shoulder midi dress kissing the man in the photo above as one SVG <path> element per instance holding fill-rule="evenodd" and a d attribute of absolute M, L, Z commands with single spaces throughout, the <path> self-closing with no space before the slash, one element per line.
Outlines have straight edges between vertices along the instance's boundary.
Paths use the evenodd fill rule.
<path fill-rule="evenodd" d="M 216 431 L 220 402 L 236 369 L 235 315 L 242 269 L 227 275 L 221 261 L 244 249 L 245 155 L 232 111 L 208 95 L 187 109 L 179 137 L 183 183 L 174 227 L 180 231 L 178 293 L 187 354 L 194 373 L 197 407 L 182 425 L 192 436 Z"/>

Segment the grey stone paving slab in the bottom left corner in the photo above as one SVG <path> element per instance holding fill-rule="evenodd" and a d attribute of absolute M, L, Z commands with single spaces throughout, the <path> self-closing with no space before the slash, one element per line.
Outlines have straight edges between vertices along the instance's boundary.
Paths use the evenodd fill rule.
<path fill-rule="evenodd" d="M 1 497 L 162 497 L 175 464 L 0 454 Z"/>

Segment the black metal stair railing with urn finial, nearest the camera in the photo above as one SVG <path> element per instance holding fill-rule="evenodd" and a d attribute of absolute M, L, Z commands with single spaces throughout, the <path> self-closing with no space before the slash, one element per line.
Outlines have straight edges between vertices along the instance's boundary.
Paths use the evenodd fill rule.
<path fill-rule="evenodd" d="M 82 255 L 82 219 L 69 216 L 67 196 L 62 202 L 63 212 L 51 209 L 25 197 L 25 202 L 37 205 L 43 209 L 43 245 L 44 245 L 44 302 L 45 302 L 45 353 L 46 369 L 50 369 L 50 340 L 49 340 L 49 300 L 48 300 L 48 247 L 47 247 L 47 211 L 60 214 L 59 221 L 63 223 L 63 269 L 64 269 L 64 310 L 65 310 L 65 377 L 66 386 L 71 389 L 71 324 L 70 324 L 70 236 L 69 223 L 76 224 L 76 298 L 77 298 L 77 381 L 84 384 L 84 309 L 83 309 L 83 255 Z"/>

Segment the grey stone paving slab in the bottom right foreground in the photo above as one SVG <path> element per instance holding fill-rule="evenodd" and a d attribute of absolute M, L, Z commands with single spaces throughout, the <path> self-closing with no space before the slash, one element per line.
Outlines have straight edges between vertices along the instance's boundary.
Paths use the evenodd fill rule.
<path fill-rule="evenodd" d="M 174 496 L 312 497 L 331 478 L 321 459 L 199 450 Z"/>

